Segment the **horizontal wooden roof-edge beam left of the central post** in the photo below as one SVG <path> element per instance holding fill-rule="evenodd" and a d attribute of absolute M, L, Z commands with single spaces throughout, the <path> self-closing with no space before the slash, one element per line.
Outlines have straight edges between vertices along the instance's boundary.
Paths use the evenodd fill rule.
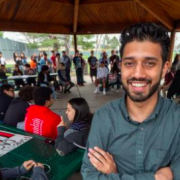
<path fill-rule="evenodd" d="M 52 33 L 52 34 L 72 34 L 71 27 L 41 24 L 31 22 L 14 22 L 0 20 L 0 31 L 34 32 L 34 33 Z"/>

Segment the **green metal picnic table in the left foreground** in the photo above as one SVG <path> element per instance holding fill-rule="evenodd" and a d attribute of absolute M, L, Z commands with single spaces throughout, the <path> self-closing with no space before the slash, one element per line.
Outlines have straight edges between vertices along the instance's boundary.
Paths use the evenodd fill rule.
<path fill-rule="evenodd" d="M 50 171 L 47 171 L 49 180 L 65 180 L 81 167 L 84 150 L 78 149 L 69 155 L 59 156 L 54 145 L 47 143 L 43 137 L 0 124 L 0 132 L 2 131 L 31 136 L 32 139 L 1 156 L 1 168 L 20 166 L 24 161 L 33 159 L 50 167 Z M 25 176 L 30 175 L 31 172 Z"/>

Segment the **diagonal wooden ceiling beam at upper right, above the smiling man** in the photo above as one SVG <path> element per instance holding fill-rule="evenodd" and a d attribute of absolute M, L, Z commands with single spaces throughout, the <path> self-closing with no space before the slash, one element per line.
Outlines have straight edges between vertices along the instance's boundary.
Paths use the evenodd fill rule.
<path fill-rule="evenodd" d="M 157 18 L 162 24 L 164 24 L 168 29 L 173 30 L 173 20 L 161 9 L 160 6 L 157 6 L 156 3 L 152 0 L 134 0 L 138 5 L 152 14 Z"/>

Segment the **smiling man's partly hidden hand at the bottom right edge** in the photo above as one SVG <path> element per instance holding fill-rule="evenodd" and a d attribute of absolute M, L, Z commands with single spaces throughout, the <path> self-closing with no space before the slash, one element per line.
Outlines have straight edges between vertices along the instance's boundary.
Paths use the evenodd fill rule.
<path fill-rule="evenodd" d="M 171 171 L 170 167 L 165 167 L 159 169 L 155 173 L 156 180 L 173 180 L 173 172 Z"/>

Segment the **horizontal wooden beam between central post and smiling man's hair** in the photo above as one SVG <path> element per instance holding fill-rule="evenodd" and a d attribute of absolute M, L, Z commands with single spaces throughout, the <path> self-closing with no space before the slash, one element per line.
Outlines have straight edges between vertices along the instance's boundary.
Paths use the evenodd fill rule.
<path fill-rule="evenodd" d="M 100 24 L 79 26 L 77 34 L 109 34 L 120 33 L 125 27 L 132 25 L 131 23 L 123 24 Z"/>

